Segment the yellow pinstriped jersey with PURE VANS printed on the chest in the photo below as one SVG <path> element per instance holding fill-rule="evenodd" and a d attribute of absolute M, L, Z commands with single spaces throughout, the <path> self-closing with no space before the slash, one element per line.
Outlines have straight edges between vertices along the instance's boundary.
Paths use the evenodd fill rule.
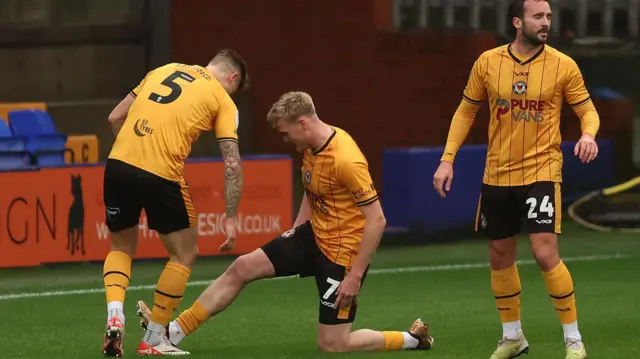
<path fill-rule="evenodd" d="M 471 70 L 463 98 L 489 101 L 489 147 L 483 182 L 522 186 L 562 181 L 560 114 L 563 99 L 574 110 L 591 103 L 578 65 L 543 46 L 524 57 L 504 45 L 483 53 Z M 596 134 L 598 124 L 586 128 Z M 452 129 L 454 130 L 454 129 Z M 452 161 L 453 151 L 443 160 Z"/>

